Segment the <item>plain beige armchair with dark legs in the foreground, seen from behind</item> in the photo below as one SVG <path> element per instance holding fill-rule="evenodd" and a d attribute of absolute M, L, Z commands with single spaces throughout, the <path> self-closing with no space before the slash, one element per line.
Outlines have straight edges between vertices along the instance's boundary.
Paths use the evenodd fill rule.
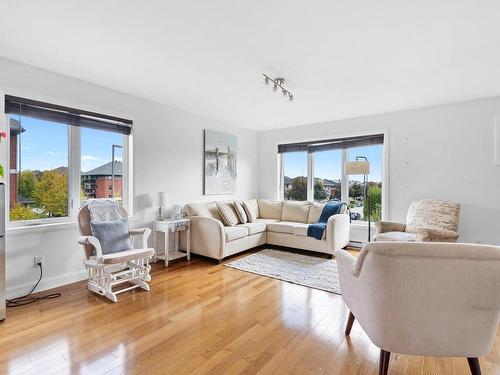
<path fill-rule="evenodd" d="M 381 374 L 391 352 L 467 357 L 481 373 L 477 358 L 491 351 L 500 318 L 500 247 L 380 242 L 335 256 L 346 334 L 356 319 L 381 349 Z"/>

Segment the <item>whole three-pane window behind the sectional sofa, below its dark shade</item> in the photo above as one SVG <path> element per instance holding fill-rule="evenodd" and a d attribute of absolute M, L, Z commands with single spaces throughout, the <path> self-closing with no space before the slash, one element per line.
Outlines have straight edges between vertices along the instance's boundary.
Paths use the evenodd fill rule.
<path fill-rule="evenodd" d="M 353 221 L 366 223 L 369 212 L 371 221 L 380 220 L 383 142 L 384 136 L 375 134 L 278 145 L 283 176 L 282 197 L 294 200 L 309 197 L 309 200 L 318 202 L 340 200 L 348 204 Z M 366 158 L 370 162 L 366 185 L 365 176 L 345 173 L 345 162 L 357 158 Z M 365 205 L 365 186 L 370 207 Z"/>

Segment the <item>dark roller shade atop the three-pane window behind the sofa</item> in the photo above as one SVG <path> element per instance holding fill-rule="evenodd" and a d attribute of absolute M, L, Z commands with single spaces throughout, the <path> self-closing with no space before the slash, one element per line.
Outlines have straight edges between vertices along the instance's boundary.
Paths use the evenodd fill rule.
<path fill-rule="evenodd" d="M 364 135 L 359 137 L 346 137 L 336 139 L 326 139 L 322 141 L 299 142 L 278 145 L 278 153 L 285 152 L 318 152 L 327 150 L 339 150 L 351 147 L 361 147 L 384 143 L 383 134 Z"/>

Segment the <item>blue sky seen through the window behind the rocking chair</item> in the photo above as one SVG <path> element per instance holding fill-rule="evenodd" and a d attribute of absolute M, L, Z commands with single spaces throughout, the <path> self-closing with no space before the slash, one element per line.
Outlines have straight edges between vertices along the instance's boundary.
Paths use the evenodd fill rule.
<path fill-rule="evenodd" d="M 68 166 L 69 126 L 23 116 L 21 170 L 47 170 Z M 80 129 L 81 170 L 89 171 L 111 161 L 111 145 L 123 145 L 123 135 L 95 129 Z M 122 150 L 115 149 L 115 160 Z"/>

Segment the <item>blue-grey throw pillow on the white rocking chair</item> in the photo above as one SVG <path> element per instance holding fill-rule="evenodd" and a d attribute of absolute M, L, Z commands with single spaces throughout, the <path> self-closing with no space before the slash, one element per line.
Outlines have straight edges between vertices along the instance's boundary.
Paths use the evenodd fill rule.
<path fill-rule="evenodd" d="M 92 235 L 101 243 L 102 253 L 111 254 L 132 249 L 132 242 L 128 233 L 128 219 L 90 222 Z"/>

